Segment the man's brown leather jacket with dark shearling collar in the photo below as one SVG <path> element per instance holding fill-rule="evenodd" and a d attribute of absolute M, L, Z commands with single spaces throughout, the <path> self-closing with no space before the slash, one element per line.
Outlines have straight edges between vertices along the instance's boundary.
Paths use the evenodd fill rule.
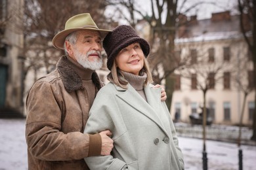
<path fill-rule="evenodd" d="M 102 83 L 96 73 L 92 79 L 98 92 Z M 100 155 L 101 139 L 83 133 L 88 101 L 82 80 L 66 56 L 52 73 L 33 84 L 26 100 L 28 169 L 89 169 L 83 158 Z"/>

